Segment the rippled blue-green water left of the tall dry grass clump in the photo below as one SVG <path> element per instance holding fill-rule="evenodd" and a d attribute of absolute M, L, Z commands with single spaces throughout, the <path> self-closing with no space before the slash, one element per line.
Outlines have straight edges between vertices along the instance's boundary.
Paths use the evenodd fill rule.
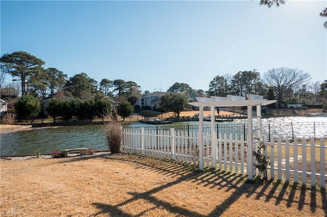
<path fill-rule="evenodd" d="M 101 125 L 62 126 L 1 133 L 0 154 L 41 154 L 70 148 L 108 149 Z"/>

